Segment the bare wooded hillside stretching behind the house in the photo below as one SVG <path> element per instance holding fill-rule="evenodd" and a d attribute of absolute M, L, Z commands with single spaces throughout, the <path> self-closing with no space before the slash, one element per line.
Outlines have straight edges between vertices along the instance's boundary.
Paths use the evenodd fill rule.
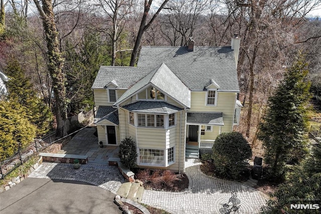
<path fill-rule="evenodd" d="M 321 20 L 309 15 L 320 5 L 317 0 L 1 0 L 0 69 L 10 77 L 7 67 L 18 60 L 61 128 L 66 115 L 92 108 L 90 87 L 100 65 L 133 65 L 142 45 L 182 46 L 190 37 L 198 46 L 229 46 L 237 33 L 245 106 L 237 131 L 255 144 L 267 98 L 299 50 L 309 62 L 313 102 L 321 103 Z"/>

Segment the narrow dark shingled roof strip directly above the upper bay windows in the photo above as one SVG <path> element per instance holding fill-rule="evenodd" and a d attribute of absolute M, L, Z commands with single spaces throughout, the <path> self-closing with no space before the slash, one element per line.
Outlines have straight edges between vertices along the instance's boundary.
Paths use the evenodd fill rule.
<path fill-rule="evenodd" d="M 154 114 L 171 114 L 182 110 L 181 108 L 164 101 L 138 101 L 128 105 L 123 105 L 122 108 L 131 112 Z"/>

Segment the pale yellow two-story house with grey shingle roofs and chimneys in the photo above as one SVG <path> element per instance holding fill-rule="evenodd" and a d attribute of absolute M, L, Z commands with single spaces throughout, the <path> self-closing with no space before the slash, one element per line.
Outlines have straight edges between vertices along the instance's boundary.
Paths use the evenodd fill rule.
<path fill-rule="evenodd" d="M 231 46 L 142 47 L 137 67 L 101 66 L 92 86 L 98 141 L 136 142 L 142 168 L 184 171 L 186 157 L 212 148 L 238 124 L 237 59 Z"/>

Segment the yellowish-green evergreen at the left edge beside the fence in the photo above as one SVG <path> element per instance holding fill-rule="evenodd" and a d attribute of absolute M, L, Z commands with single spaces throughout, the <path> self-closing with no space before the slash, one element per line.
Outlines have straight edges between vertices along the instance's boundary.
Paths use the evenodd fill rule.
<path fill-rule="evenodd" d="M 29 122 L 27 112 L 18 102 L 0 101 L 0 161 L 35 138 L 36 127 Z"/>

